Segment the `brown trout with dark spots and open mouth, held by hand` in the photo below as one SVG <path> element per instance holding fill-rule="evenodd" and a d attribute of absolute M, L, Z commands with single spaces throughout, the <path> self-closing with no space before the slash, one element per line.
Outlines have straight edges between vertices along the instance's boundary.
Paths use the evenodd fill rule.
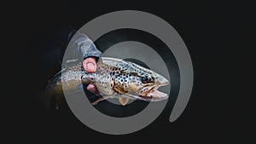
<path fill-rule="evenodd" d="M 81 84 L 95 84 L 102 95 L 91 102 L 92 105 L 108 98 L 119 99 L 122 106 L 129 100 L 163 101 L 168 98 L 166 93 L 158 90 L 161 86 L 169 84 L 166 78 L 131 61 L 112 57 L 100 57 L 94 73 L 86 72 L 81 63 L 62 69 L 49 80 L 45 95 L 48 98 L 55 95 L 58 108 L 63 87 L 67 92 L 73 92 Z M 49 107 L 49 103 L 47 105 Z"/>

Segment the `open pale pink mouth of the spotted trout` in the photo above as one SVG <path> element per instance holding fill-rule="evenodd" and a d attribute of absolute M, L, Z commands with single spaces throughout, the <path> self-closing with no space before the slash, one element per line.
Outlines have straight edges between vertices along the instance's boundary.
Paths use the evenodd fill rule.
<path fill-rule="evenodd" d="M 153 85 L 153 86 L 146 86 L 143 89 L 145 90 L 141 95 L 138 95 L 137 99 L 143 100 L 143 101 L 162 101 L 166 100 L 168 98 L 168 95 L 166 93 L 163 93 L 158 90 L 160 86 L 164 86 L 167 84 L 161 84 L 161 85 Z"/>

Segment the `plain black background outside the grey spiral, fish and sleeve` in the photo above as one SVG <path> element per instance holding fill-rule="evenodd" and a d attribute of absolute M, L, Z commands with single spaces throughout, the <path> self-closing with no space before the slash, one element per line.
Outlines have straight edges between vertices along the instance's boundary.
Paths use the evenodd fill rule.
<path fill-rule="evenodd" d="M 4 5 L 3 5 L 4 6 Z M 3 136 L 8 143 L 137 142 L 247 143 L 255 135 L 253 52 L 255 12 L 252 3 L 235 2 L 11 2 L 3 10 Z M 58 65 L 42 64 L 47 52 L 65 45 L 69 28 L 109 12 L 135 9 L 168 21 L 183 38 L 193 61 L 195 82 L 189 104 L 173 123 L 165 109 L 143 130 L 105 135 L 82 124 L 69 108 L 50 117 L 38 100 Z M 63 33 L 61 33 L 63 32 Z M 63 37 L 61 37 L 63 36 Z M 254 36 L 254 37 L 252 37 Z M 63 40 L 64 39 L 64 40 Z M 63 42 L 63 43 L 62 43 Z M 59 48 L 61 49 L 61 48 Z M 58 51 L 55 52 L 59 53 Z M 56 69 L 47 71 L 54 66 Z M 246 88 L 246 89 L 245 89 Z M 255 95 L 255 94 L 254 94 Z M 251 132 L 252 131 L 252 132 Z"/>

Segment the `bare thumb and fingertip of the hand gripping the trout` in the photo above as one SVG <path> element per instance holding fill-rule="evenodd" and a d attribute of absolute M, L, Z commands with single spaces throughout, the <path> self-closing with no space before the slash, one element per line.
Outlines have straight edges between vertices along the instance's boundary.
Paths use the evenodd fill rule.
<path fill-rule="evenodd" d="M 84 59 L 83 67 L 86 72 L 90 72 L 90 73 L 96 72 L 96 59 L 94 57 L 88 57 Z M 91 93 L 100 95 L 95 84 L 89 84 L 86 89 L 89 90 Z"/>

